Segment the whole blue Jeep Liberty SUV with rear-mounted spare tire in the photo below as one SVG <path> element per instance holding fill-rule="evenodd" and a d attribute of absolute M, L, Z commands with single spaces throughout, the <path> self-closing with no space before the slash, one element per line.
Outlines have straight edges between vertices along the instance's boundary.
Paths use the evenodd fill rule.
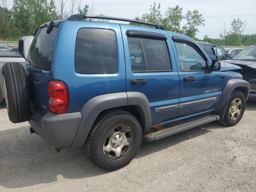
<path fill-rule="evenodd" d="M 107 16 L 42 24 L 27 66 L 28 77 L 21 64 L 3 67 L 10 120 L 29 121 L 30 132 L 58 151 L 85 144 L 90 160 L 108 171 L 129 164 L 142 140 L 215 120 L 234 126 L 250 91 L 241 74 L 218 71 L 220 62 L 212 62 L 192 38 Z"/>

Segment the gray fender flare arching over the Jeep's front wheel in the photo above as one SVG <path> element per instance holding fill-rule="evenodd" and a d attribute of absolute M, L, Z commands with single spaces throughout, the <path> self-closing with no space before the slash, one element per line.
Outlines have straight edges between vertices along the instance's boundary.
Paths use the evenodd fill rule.
<path fill-rule="evenodd" d="M 238 78 L 230 79 L 222 90 L 222 97 L 220 98 L 220 101 L 218 102 L 217 108 L 214 110 L 214 112 L 216 112 L 222 120 L 224 118 L 228 100 L 232 92 L 235 89 L 242 90 L 245 100 L 247 101 L 250 93 L 250 88 L 250 83 L 245 80 Z"/>

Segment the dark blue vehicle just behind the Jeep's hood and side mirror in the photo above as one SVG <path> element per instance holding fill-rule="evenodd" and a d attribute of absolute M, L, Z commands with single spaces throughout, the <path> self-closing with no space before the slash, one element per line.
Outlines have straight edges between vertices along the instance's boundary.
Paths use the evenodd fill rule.
<path fill-rule="evenodd" d="M 204 52 L 210 57 L 211 60 L 228 60 L 230 59 L 230 56 L 226 51 L 220 47 L 216 46 L 214 44 L 208 43 L 208 42 L 200 42 L 197 41 L 197 43 L 203 48 Z"/>

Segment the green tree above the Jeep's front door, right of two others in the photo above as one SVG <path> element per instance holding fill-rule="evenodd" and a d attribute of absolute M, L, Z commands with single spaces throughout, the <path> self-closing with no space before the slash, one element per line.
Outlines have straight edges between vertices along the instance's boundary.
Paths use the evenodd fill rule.
<path fill-rule="evenodd" d="M 188 10 L 184 18 L 187 23 L 182 27 L 183 33 L 191 38 L 196 38 L 199 26 L 204 26 L 204 18 L 202 14 L 199 14 L 198 10 Z"/>

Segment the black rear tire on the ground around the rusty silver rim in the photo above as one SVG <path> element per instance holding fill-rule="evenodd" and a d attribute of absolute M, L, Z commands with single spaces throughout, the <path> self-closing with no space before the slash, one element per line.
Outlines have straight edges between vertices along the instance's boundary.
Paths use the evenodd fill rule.
<path fill-rule="evenodd" d="M 106 143 L 108 134 L 112 134 L 113 130 L 114 134 L 118 134 L 115 131 L 116 129 L 119 130 L 119 128 L 116 128 L 119 125 L 127 126 L 127 133 L 129 132 L 129 134 L 132 135 L 129 138 L 132 140 L 132 142 L 129 142 L 128 147 L 126 146 L 124 153 L 124 147 L 122 148 L 122 152 L 120 153 L 121 155 L 119 154 L 120 159 L 118 159 L 118 155 L 113 155 L 114 152 L 112 152 L 112 156 L 110 156 L 110 152 L 107 155 L 106 151 L 103 150 L 104 146 L 108 145 L 108 143 Z M 122 128 L 120 128 L 120 131 L 121 130 Z M 114 138 L 109 138 L 109 145 L 111 145 L 111 141 L 113 141 L 112 139 Z M 122 110 L 109 111 L 100 115 L 95 121 L 94 126 L 86 139 L 86 153 L 91 162 L 94 163 L 98 168 L 106 171 L 113 171 L 120 169 L 131 162 L 131 160 L 137 154 L 141 142 L 142 129 L 135 116 Z"/>

